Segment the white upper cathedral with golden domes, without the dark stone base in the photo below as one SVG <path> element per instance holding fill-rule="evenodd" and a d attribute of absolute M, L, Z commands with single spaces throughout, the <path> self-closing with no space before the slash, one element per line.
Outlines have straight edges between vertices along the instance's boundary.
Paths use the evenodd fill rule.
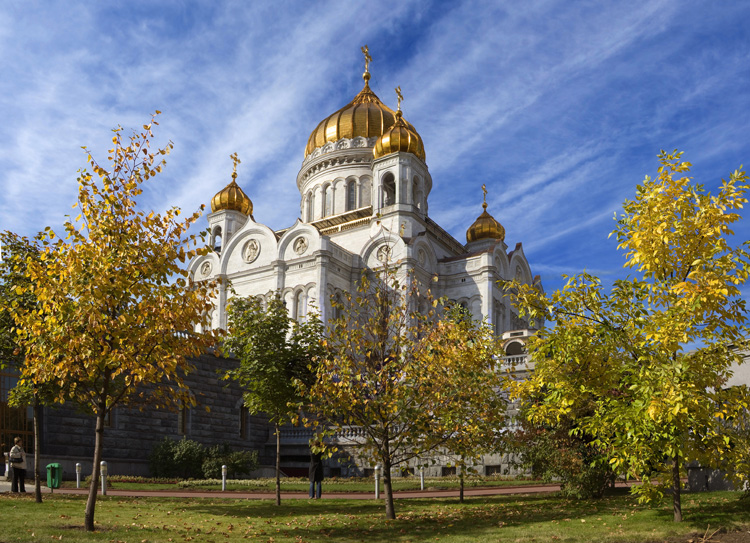
<path fill-rule="evenodd" d="M 220 279 L 213 326 L 226 329 L 227 300 L 281 292 L 290 316 L 316 310 L 323 322 L 331 301 L 354 292 L 365 269 L 398 263 L 418 281 L 432 281 L 436 297 L 486 319 L 498 335 L 527 328 L 498 281 L 520 279 L 541 288 L 521 243 L 509 250 L 505 229 L 483 210 L 467 225 L 466 242 L 429 216 L 432 177 L 422 138 L 398 107 L 393 111 L 369 86 L 324 118 L 310 133 L 297 174 L 300 217 L 283 230 L 256 222 L 253 203 L 232 181 L 211 200 L 208 215 L 215 250 L 189 265 L 193 279 Z M 440 182 L 438 180 L 438 182 Z M 468 222 L 468 221 L 467 221 Z"/>

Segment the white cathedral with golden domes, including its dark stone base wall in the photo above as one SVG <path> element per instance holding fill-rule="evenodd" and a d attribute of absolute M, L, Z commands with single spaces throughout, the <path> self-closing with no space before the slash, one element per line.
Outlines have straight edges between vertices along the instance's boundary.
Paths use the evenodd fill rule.
<path fill-rule="evenodd" d="M 269 297 L 276 292 L 281 292 L 292 318 L 303 320 L 314 310 L 326 322 L 336 317 L 331 301 L 354 292 L 364 270 L 393 262 L 400 273 L 429 283 L 435 297 L 486 319 L 504 340 L 507 367 L 521 368 L 520 374 L 533 369 L 523 348 L 531 331 L 498 285 L 520 279 L 541 288 L 523 247 L 517 243 L 509 249 L 505 229 L 487 210 L 486 191 L 479 216 L 467 220 L 465 243 L 430 218 L 433 181 L 422 138 L 401 111 L 399 89 L 396 111 L 370 89 L 369 55 L 363 51 L 362 90 L 310 133 L 297 174 L 300 216 L 291 226 L 274 231 L 256 222 L 253 203 L 237 183 L 239 160 L 233 157 L 232 180 L 213 196 L 207 216 L 214 251 L 188 265 L 194 280 L 219 280 L 212 326 L 227 328 L 231 296 Z M 112 413 L 104 446 L 110 473 L 148 475 L 148 454 L 165 437 L 256 449 L 262 464 L 273 462 L 275 438 L 267 420 L 249 416 L 236 383 L 220 379 L 232 361 L 206 353 L 194 362 L 196 371 L 188 381 L 198 401 L 195 409 L 156 411 L 147 417 L 126 408 Z M 42 465 L 59 462 L 69 478 L 80 462 L 84 474 L 90 473 L 93 424 L 92 417 L 72 407 L 45 408 Z M 23 435 L 30 438 L 30 428 Z M 282 428 L 282 468 L 288 475 L 307 473 L 311 435 L 306 428 Z M 494 456 L 485 459 L 483 473 L 497 472 L 505 464 L 500 455 Z M 428 474 L 450 469 L 437 459 Z M 367 466 L 336 459 L 326 470 L 342 476 L 371 472 Z"/>

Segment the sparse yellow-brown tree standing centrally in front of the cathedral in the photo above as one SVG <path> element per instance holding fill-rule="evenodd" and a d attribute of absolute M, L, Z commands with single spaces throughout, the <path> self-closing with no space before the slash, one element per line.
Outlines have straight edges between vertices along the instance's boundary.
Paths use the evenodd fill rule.
<path fill-rule="evenodd" d="M 438 306 L 393 266 L 363 274 L 356 296 L 345 293 L 342 315 L 327 329 L 326 356 L 305 389 L 313 424 L 340 442 L 356 434 L 358 453 L 382 465 L 389 519 L 396 518 L 391 469 L 462 432 L 463 415 L 486 413 L 484 392 L 500 386 L 496 343 L 484 332 L 464 341 L 459 323 L 440 319 Z"/>

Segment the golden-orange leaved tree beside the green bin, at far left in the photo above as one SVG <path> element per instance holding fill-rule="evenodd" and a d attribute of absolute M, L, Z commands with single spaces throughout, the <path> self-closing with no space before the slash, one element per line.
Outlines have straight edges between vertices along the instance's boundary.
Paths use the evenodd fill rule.
<path fill-rule="evenodd" d="M 172 148 L 151 151 L 156 124 L 152 118 L 125 142 L 115 129 L 109 169 L 88 155 L 93 175 L 80 172 L 80 214 L 64 224 L 66 239 L 48 227 L 41 263 L 27 260 L 38 308 L 15 315 L 26 351 L 22 381 L 54 384 L 56 401 L 72 400 L 96 416 L 88 531 L 107 414 L 118 405 L 193 405 L 184 383 L 188 359 L 214 341 L 210 331 L 192 331 L 210 326 L 213 285 L 191 282 L 180 266 L 204 251 L 190 248 L 198 240 L 187 233 L 200 212 L 182 219 L 177 208 L 160 214 L 137 206 L 142 184 L 161 172 Z"/>

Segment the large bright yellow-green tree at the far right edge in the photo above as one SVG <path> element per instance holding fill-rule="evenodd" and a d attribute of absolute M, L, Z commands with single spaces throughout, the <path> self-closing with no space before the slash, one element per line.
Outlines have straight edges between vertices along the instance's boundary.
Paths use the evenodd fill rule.
<path fill-rule="evenodd" d="M 746 387 L 724 387 L 747 346 L 748 242 L 732 246 L 730 227 L 748 178 L 735 171 L 712 196 L 679 177 L 691 166 L 681 153 L 659 160 L 658 177 L 638 186 L 613 232 L 637 277 L 609 294 L 586 273 L 551 297 L 519 284 L 510 291 L 524 313 L 555 322 L 530 342 L 536 371 L 516 390 L 541 398 L 531 420 L 575 414 L 573 432 L 594 436 L 613 469 L 642 479 L 642 499 L 671 489 L 680 521 L 684 466 L 732 466 L 738 451 L 725 420 L 750 404 Z"/>

